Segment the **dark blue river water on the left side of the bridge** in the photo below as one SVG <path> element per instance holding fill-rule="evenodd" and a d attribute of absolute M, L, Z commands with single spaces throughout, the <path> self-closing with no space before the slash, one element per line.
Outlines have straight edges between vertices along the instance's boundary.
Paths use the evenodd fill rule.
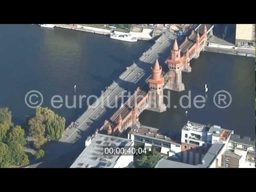
<path fill-rule="evenodd" d="M 53 109 L 50 100 L 55 94 L 96 95 L 109 86 L 133 60 L 154 42 L 120 42 L 108 36 L 66 30 L 46 29 L 37 25 L 0 25 L 0 107 L 9 107 L 15 124 L 34 115 L 24 97 L 30 90 L 44 96 L 47 106 L 67 123 L 74 121 L 87 108 Z M 34 102 L 34 100 L 33 100 Z M 78 107 L 78 100 L 77 100 Z"/>

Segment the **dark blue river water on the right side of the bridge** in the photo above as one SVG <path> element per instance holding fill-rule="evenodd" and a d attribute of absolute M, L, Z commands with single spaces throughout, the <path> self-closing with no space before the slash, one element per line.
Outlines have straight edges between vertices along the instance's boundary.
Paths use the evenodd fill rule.
<path fill-rule="evenodd" d="M 185 90 L 170 91 L 171 108 L 161 114 L 145 110 L 139 117 L 140 122 L 162 130 L 180 133 L 184 124 L 190 120 L 220 125 L 234 130 L 241 136 L 255 138 L 254 60 L 255 58 L 244 56 L 201 52 L 198 59 L 190 62 L 192 72 L 182 72 Z M 205 83 L 209 88 L 206 105 L 198 109 L 193 105 L 193 99 L 197 95 L 205 96 Z M 219 90 L 228 91 L 232 96 L 232 102 L 228 108 L 221 109 L 215 106 L 213 97 Z M 179 101 L 181 96 L 188 95 L 188 91 L 191 91 L 192 104 L 191 108 L 184 109 L 180 107 Z M 167 90 L 164 93 L 167 94 Z M 188 100 L 183 101 L 186 106 Z M 226 102 L 229 102 L 228 98 Z M 174 108 L 175 105 L 177 108 Z M 186 116 L 186 110 L 188 110 L 188 116 Z"/>

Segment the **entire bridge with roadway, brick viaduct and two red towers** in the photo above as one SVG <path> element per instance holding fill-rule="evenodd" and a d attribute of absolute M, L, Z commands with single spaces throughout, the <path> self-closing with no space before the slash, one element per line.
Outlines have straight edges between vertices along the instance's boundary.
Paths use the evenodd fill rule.
<path fill-rule="evenodd" d="M 88 109 L 66 128 L 58 143 L 49 144 L 46 147 L 46 154 L 50 156 L 47 159 L 48 164 L 58 158 L 65 158 L 76 150 L 81 151 L 86 138 L 95 131 L 118 135 L 129 126 L 137 124 L 138 116 L 143 110 L 159 112 L 166 110 L 162 99 L 163 89 L 182 90 L 177 89 L 182 84 L 181 72 L 191 72 L 189 62 L 192 58 L 198 58 L 200 52 L 204 50 L 207 36 L 212 34 L 213 27 L 211 24 L 200 24 L 192 30 L 180 46 L 178 46 L 176 34 L 166 30 L 151 48 L 106 88 L 98 101 L 88 106 Z M 171 50 L 170 57 L 162 58 L 160 53 L 167 50 Z M 157 56 L 159 60 L 166 60 L 168 72 L 162 71 Z M 151 68 L 153 64 L 154 68 Z M 147 86 L 146 82 L 149 79 L 151 79 L 149 90 L 141 89 Z M 107 104 L 114 103 L 115 98 L 124 90 L 131 92 L 132 96 L 118 108 L 108 108 Z M 137 99 L 135 95 L 140 97 Z M 64 143 L 66 143 L 65 147 L 63 147 Z M 41 165 L 47 167 L 48 164 Z"/>

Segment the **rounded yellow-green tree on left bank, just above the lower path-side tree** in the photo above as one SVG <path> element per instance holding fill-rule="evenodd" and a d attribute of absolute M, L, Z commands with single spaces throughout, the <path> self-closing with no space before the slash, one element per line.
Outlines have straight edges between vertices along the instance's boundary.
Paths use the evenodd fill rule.
<path fill-rule="evenodd" d="M 8 134 L 8 144 L 10 142 L 18 142 L 21 146 L 26 144 L 25 131 L 20 126 L 15 126 Z"/>

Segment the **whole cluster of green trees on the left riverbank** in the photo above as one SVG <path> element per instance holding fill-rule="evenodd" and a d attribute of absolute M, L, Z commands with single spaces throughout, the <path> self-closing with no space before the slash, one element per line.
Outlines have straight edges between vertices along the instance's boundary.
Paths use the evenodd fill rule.
<path fill-rule="evenodd" d="M 8 108 L 0 108 L 0 168 L 24 166 L 29 164 L 28 155 L 23 147 L 26 145 L 27 136 L 34 138 L 34 147 L 39 150 L 35 157 L 44 156 L 44 150 L 40 149 L 48 139 L 58 140 L 65 130 L 65 118 L 58 116 L 48 108 L 39 107 L 36 115 L 27 118 L 26 123 L 14 126 L 12 113 Z"/>

